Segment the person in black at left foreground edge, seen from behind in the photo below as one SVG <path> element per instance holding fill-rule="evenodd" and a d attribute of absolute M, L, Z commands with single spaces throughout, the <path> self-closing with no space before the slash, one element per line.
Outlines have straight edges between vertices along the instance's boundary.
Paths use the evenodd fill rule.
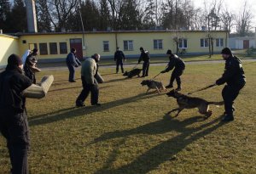
<path fill-rule="evenodd" d="M 6 69 L 0 74 L 0 132 L 7 140 L 11 173 L 26 174 L 27 151 L 30 138 L 25 112 L 25 98 L 21 92 L 32 85 L 22 74 L 22 60 L 9 56 Z"/>

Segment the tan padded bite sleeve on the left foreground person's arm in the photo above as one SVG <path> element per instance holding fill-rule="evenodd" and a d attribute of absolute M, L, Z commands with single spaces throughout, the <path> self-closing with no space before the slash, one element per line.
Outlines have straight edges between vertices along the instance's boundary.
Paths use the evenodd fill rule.
<path fill-rule="evenodd" d="M 26 98 L 44 98 L 48 93 L 49 87 L 54 81 L 54 76 L 44 76 L 38 85 L 32 84 L 22 93 Z"/>

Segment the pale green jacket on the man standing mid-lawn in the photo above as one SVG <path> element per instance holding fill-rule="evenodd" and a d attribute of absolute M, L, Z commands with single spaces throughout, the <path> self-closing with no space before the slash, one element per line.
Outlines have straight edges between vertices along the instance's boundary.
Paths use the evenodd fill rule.
<path fill-rule="evenodd" d="M 93 84 L 97 72 L 97 65 L 95 59 L 85 59 L 82 64 L 81 76 L 84 76 L 84 80 L 88 84 Z"/>

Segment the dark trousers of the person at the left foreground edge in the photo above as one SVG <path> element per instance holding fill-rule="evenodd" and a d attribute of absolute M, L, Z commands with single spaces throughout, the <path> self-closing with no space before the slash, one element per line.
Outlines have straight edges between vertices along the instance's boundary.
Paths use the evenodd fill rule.
<path fill-rule="evenodd" d="M 7 140 L 13 174 L 26 174 L 29 131 L 26 114 L 3 114 L 0 116 L 0 132 Z"/>

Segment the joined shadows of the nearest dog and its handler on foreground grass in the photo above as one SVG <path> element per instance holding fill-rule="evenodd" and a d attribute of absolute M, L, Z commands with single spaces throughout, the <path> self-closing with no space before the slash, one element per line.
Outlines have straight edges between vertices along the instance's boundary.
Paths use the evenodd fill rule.
<path fill-rule="evenodd" d="M 145 153 L 139 155 L 136 159 L 131 161 L 131 163 L 120 166 L 117 169 L 111 168 L 115 160 L 117 159 L 116 151 L 119 147 L 114 148 L 112 154 L 109 155 L 108 161 L 102 167 L 102 169 L 95 172 L 95 174 L 102 173 L 111 173 L 111 174 L 133 174 L 140 173 L 145 174 L 152 170 L 157 169 L 162 163 L 168 160 L 178 160 L 176 154 L 185 149 L 190 143 L 197 141 L 200 138 L 205 137 L 207 134 L 210 134 L 218 127 L 223 126 L 224 122 L 219 121 L 217 118 L 213 121 L 203 123 L 201 126 L 187 128 L 196 121 L 201 121 L 201 116 L 191 117 L 184 121 L 178 121 L 175 119 L 172 120 L 160 120 L 152 123 L 148 123 L 143 126 L 138 126 L 137 128 L 125 130 L 121 132 L 108 132 L 103 134 L 100 138 L 96 138 L 95 143 L 99 141 L 106 141 L 111 138 L 122 138 L 119 144 L 122 145 L 122 142 L 125 142 L 125 138 L 135 134 L 163 134 L 166 132 L 176 131 L 180 132 L 176 137 L 167 139 L 164 142 L 159 143 L 151 149 L 148 149 Z M 172 167 L 172 166 L 170 166 Z"/>

